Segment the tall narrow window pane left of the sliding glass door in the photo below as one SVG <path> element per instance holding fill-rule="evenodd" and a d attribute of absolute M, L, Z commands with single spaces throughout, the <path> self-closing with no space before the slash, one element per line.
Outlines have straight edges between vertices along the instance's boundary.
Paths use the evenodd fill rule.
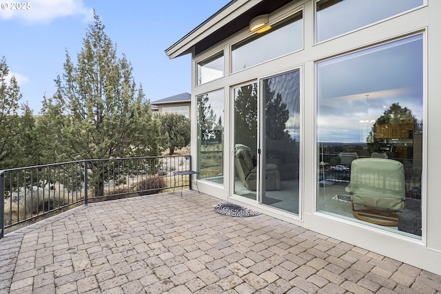
<path fill-rule="evenodd" d="M 223 90 L 197 97 L 199 179 L 223 185 Z"/>

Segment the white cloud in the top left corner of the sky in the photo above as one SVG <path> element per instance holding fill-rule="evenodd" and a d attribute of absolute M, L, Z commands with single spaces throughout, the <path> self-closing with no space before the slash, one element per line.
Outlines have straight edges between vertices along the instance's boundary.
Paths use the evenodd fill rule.
<path fill-rule="evenodd" d="M 0 19 L 19 19 L 27 23 L 50 23 L 59 17 L 74 15 L 83 17 L 84 21 L 93 19 L 93 9 L 85 7 L 83 0 L 34 0 L 14 3 L 20 8 L 25 5 L 26 9 L 11 9 L 12 3 L 4 1 L 1 4 Z"/>

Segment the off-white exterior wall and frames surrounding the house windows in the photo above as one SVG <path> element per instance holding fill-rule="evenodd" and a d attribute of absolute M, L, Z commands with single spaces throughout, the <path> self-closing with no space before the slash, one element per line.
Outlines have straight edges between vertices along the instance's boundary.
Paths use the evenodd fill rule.
<path fill-rule="evenodd" d="M 224 93 L 224 134 L 223 134 L 223 185 L 201 180 L 198 187 L 204 193 L 216 196 L 222 200 L 229 200 L 247 207 L 265 212 L 281 220 L 298 224 L 307 229 L 329 235 L 338 240 L 349 242 L 381 255 L 413 264 L 433 273 L 441 274 L 441 197 L 439 194 L 439 179 L 441 178 L 441 88 L 439 81 L 441 74 L 441 1 L 427 0 L 423 6 L 408 12 L 379 21 L 365 28 L 342 34 L 336 38 L 316 43 L 315 32 L 315 5 L 316 1 L 292 1 L 281 8 L 271 17 L 281 17 L 294 10 L 303 10 L 303 48 L 297 52 L 280 56 L 271 61 L 260 63 L 246 70 L 231 73 L 230 46 L 249 31 L 244 29 L 213 48 L 197 56 L 192 54 L 192 117 L 197 117 L 196 97 L 215 91 Z M 381 9 L 380 7 L 378 9 Z M 316 209 L 317 188 L 317 63 L 339 56 L 345 52 L 353 52 L 368 48 L 389 40 L 395 40 L 422 34 L 423 36 L 423 97 L 424 97 L 424 129 L 422 145 L 422 236 L 408 238 L 400 235 L 367 226 L 360 222 L 352 222 L 345 218 L 322 213 Z M 196 64 L 212 54 L 224 50 L 225 75 L 209 83 L 197 85 Z M 298 214 L 287 213 L 274 209 L 258 201 L 240 198 L 233 193 L 234 183 L 234 134 L 232 134 L 232 89 L 258 78 L 264 78 L 289 70 L 301 72 L 301 141 L 300 141 L 300 211 Z M 197 86 L 196 86 L 197 85 Z M 198 120 L 192 120 L 192 165 L 198 166 Z"/>

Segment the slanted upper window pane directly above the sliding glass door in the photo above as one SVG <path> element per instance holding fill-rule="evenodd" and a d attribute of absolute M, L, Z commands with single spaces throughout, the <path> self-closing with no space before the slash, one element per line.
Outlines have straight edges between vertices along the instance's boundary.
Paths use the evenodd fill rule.
<path fill-rule="evenodd" d="M 232 72 L 303 48 L 302 12 L 272 27 L 265 33 L 254 34 L 232 45 Z"/>

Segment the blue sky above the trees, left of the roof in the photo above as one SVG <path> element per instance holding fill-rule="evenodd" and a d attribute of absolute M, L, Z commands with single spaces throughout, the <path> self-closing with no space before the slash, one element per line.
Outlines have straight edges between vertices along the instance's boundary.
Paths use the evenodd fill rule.
<path fill-rule="evenodd" d="M 38 114 L 43 95 L 54 94 L 54 78 L 63 74 L 66 50 L 76 63 L 93 9 L 117 54 L 132 63 L 136 83 L 156 101 L 191 91 L 190 56 L 170 60 L 164 50 L 229 0 L 34 0 L 28 10 L 11 10 L 11 2 L 3 2 L 8 7 L 0 8 L 0 58 L 6 57 L 19 81 L 21 102 Z"/>

